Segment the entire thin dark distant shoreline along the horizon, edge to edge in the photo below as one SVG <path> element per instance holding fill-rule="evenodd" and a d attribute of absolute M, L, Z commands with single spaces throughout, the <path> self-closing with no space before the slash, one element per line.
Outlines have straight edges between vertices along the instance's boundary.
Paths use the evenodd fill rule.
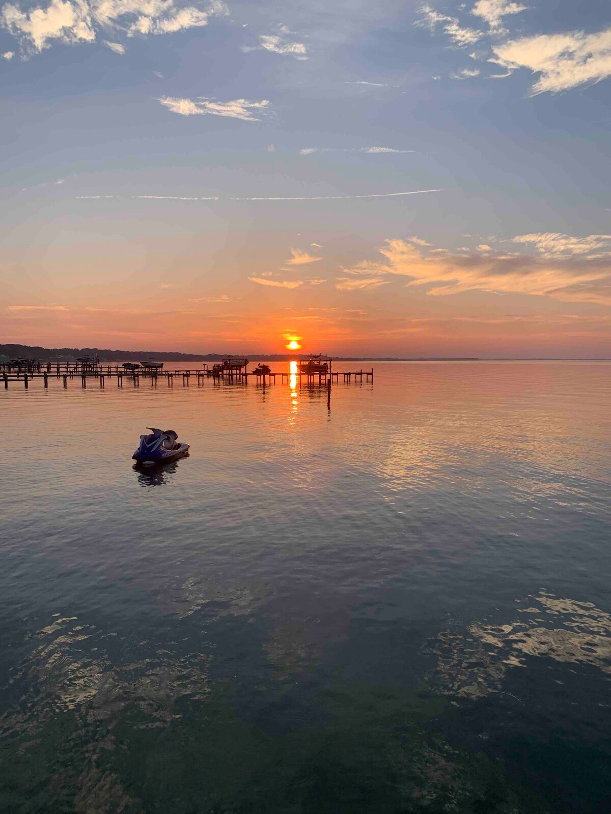
<path fill-rule="evenodd" d="M 109 348 L 42 348 L 37 345 L 0 344 L 0 357 L 28 357 L 44 361 L 76 361 L 77 357 L 98 356 L 103 362 L 116 361 L 221 361 L 227 353 L 181 353 L 171 351 L 122 351 Z M 234 353 L 251 361 L 291 361 L 303 353 Z M 333 361 L 611 361 L 609 357 L 332 357 Z"/>

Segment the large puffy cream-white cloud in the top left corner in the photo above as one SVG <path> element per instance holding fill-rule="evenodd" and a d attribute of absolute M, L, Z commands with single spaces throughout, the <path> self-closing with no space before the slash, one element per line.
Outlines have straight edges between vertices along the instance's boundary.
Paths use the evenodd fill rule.
<path fill-rule="evenodd" d="M 113 29 L 126 31 L 129 37 L 172 33 L 207 25 L 211 16 L 227 13 L 225 4 L 219 0 L 213 0 L 204 11 L 192 6 L 177 7 L 174 0 L 51 0 L 46 6 L 27 11 L 8 2 L 0 11 L 0 24 L 29 53 L 42 51 L 52 41 L 94 42 L 98 28 L 106 33 Z M 134 18 L 133 22 L 129 18 Z M 108 41 L 104 44 L 116 46 L 108 45 Z"/>

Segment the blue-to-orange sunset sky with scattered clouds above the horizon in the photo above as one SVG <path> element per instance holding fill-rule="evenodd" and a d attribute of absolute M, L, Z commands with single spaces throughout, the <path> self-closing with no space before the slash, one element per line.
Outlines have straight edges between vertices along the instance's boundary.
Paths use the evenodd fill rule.
<path fill-rule="evenodd" d="M 0 82 L 2 343 L 611 357 L 608 2 L 11 0 Z"/>

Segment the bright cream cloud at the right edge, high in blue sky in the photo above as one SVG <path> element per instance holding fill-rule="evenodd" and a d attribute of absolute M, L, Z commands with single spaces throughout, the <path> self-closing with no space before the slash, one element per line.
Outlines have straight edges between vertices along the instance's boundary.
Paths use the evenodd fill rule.
<path fill-rule="evenodd" d="M 540 74 L 530 88 L 535 96 L 547 91 L 558 93 L 587 82 L 599 82 L 611 76 L 611 28 L 586 34 L 539 34 L 521 37 L 492 47 L 495 59 L 512 72 L 528 68 Z"/>

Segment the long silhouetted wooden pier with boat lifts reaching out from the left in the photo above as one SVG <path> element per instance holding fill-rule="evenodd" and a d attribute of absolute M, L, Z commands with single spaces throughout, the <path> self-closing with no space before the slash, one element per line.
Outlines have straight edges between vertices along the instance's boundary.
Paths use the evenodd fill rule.
<path fill-rule="evenodd" d="M 319 357 L 317 357 L 319 358 Z M 45 388 L 49 387 L 49 381 L 61 380 L 63 387 L 68 387 L 68 382 L 80 381 L 81 387 L 86 388 L 87 383 L 99 384 L 99 387 L 106 387 L 106 383 L 116 379 L 116 386 L 123 387 L 124 380 L 129 381 L 134 387 L 140 387 L 141 382 L 150 382 L 151 387 L 156 387 L 159 380 L 165 382 L 168 387 L 174 387 L 174 379 L 178 382 L 182 379 L 182 386 L 189 387 L 191 379 L 197 385 L 204 384 L 206 379 L 213 379 L 216 383 L 241 383 L 248 384 L 248 377 L 254 377 L 257 384 L 266 387 L 267 384 L 298 383 L 301 387 L 304 383 L 312 387 L 330 387 L 332 382 L 339 383 L 340 380 L 346 383 L 355 382 L 373 383 L 373 368 L 371 370 L 332 370 L 332 360 L 327 357 L 326 370 L 312 370 L 311 367 L 300 368 L 297 364 L 297 372 L 274 372 L 269 365 L 260 363 L 248 373 L 248 359 L 245 357 L 225 357 L 221 363 L 209 367 L 201 365 L 196 369 L 189 370 L 164 370 L 162 365 L 109 365 L 95 361 L 91 364 L 87 360 L 77 362 L 55 362 L 55 361 L 35 361 L 35 360 L 11 360 L 0 364 L 0 381 L 8 388 L 9 382 L 23 383 L 24 389 L 29 389 L 29 383 L 35 379 L 41 380 Z M 323 362 L 324 364 L 324 362 Z"/>

